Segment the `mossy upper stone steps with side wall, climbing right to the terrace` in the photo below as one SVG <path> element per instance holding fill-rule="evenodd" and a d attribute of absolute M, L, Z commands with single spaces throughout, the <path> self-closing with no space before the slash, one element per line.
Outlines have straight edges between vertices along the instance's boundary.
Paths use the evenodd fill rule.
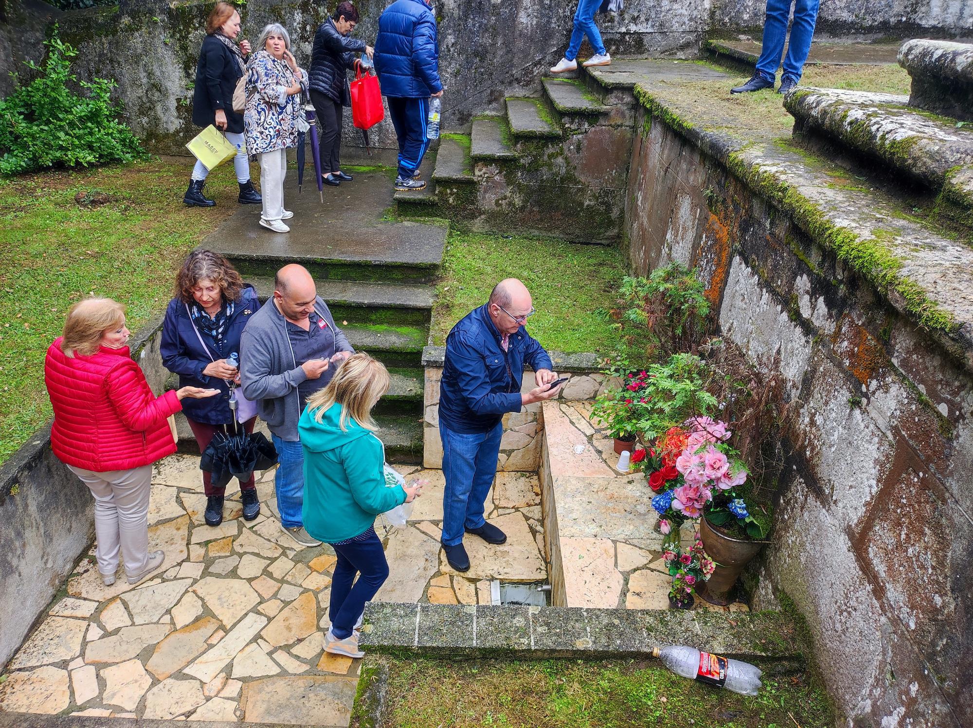
<path fill-rule="evenodd" d="M 632 99 L 588 74 L 543 79 L 538 96 L 445 132 L 431 184 L 396 193 L 400 214 L 576 242 L 620 237 L 631 154 Z"/>

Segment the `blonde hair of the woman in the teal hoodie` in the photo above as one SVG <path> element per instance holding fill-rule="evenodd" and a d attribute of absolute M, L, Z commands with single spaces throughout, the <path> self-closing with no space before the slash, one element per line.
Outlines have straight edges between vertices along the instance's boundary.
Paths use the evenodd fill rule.
<path fill-rule="evenodd" d="M 367 430 L 377 430 L 378 425 L 372 419 L 372 408 L 388 391 L 388 383 L 385 365 L 359 351 L 344 360 L 334 379 L 324 389 L 307 398 L 307 408 L 317 411 L 314 420 L 320 422 L 324 419 L 324 413 L 338 402 L 342 405 L 342 417 L 338 420 L 342 432 L 348 431 L 348 418 Z"/>

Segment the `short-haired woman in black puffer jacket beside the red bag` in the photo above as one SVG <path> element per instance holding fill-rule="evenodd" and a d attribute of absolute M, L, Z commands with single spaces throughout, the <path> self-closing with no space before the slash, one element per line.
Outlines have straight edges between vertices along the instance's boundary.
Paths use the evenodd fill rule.
<path fill-rule="evenodd" d="M 339 162 L 343 107 L 351 105 L 347 71 L 354 67 L 356 53 L 364 51 L 371 58 L 375 52 L 365 41 L 349 37 L 357 24 L 355 6 L 339 3 L 332 17 L 322 22 L 314 35 L 307 71 L 310 102 L 321 129 L 321 173 L 327 185 L 351 181 L 351 175 L 342 172 Z"/>

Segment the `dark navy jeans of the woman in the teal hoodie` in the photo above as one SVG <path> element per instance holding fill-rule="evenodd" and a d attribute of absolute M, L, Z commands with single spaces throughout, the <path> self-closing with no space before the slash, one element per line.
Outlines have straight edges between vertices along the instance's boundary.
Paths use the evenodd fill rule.
<path fill-rule="evenodd" d="M 372 601 L 388 578 L 385 552 L 375 530 L 371 531 L 369 538 L 364 541 L 332 544 L 338 563 L 331 579 L 328 619 L 331 620 L 331 634 L 339 639 L 351 637 L 355 622 L 365 610 L 365 602 Z M 355 574 L 358 573 L 361 576 L 355 581 Z M 351 586 L 352 582 L 354 586 Z"/>

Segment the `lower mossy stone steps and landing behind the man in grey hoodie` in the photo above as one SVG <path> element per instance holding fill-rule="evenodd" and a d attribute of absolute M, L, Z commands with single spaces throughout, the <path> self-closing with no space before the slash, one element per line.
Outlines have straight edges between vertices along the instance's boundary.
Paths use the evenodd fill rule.
<path fill-rule="evenodd" d="M 351 345 L 378 358 L 392 375 L 376 410 L 386 458 L 420 462 L 422 347 L 447 230 L 383 219 L 393 204 L 388 175 L 367 171 L 354 176 L 340 188 L 325 188 L 323 203 L 313 190 L 298 195 L 296 187 L 289 187 L 285 200 L 294 218 L 286 235 L 261 228 L 259 209 L 243 210 L 201 247 L 226 256 L 262 301 L 272 294 L 273 273 L 281 266 L 305 266 Z M 180 449 L 192 452 L 196 443 L 188 426 L 184 420 L 177 424 Z"/>

